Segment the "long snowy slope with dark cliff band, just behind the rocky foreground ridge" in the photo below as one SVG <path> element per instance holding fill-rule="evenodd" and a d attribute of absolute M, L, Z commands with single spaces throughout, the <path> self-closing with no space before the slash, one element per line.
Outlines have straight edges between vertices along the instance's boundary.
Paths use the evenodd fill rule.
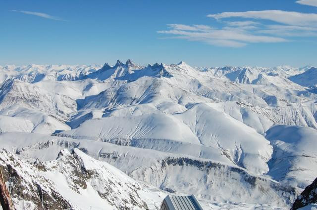
<path fill-rule="evenodd" d="M 26 141 L 21 140 L 21 136 L 25 136 Z M 1 134 L 0 143 L 6 141 L 10 142 L 6 146 L 9 151 L 47 161 L 54 160 L 60 150 L 79 148 L 137 180 L 173 193 L 195 193 L 206 203 L 251 202 L 287 208 L 299 193 L 293 187 L 252 174 L 233 163 L 224 164 L 179 153 L 33 133 Z"/>

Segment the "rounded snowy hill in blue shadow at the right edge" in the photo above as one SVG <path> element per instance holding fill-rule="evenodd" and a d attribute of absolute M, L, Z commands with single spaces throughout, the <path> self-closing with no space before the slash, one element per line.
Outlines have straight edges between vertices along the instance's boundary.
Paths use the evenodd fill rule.
<path fill-rule="evenodd" d="M 317 174 L 317 130 L 299 126 L 274 126 L 266 131 L 274 152 L 268 172 L 275 180 L 300 188 Z"/>

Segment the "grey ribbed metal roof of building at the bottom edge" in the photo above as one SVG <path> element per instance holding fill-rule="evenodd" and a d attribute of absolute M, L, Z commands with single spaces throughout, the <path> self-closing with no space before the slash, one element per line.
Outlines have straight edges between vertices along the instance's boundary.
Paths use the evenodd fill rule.
<path fill-rule="evenodd" d="M 191 196 L 166 196 L 160 210 L 203 210 L 195 195 Z"/>

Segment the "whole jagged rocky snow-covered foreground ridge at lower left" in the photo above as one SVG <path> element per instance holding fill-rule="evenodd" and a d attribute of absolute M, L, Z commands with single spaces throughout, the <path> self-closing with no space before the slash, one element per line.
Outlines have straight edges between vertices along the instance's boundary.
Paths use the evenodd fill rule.
<path fill-rule="evenodd" d="M 146 210 L 146 201 L 151 200 L 152 192 L 143 185 L 78 149 L 72 153 L 62 150 L 55 161 L 49 162 L 25 160 L 2 149 L 0 166 L 18 210 L 89 209 L 90 206 Z"/>

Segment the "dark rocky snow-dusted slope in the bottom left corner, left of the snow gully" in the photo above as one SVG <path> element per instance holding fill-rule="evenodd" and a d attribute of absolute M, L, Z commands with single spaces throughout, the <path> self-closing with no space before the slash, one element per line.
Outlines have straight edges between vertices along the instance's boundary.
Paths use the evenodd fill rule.
<path fill-rule="evenodd" d="M 36 172 L 45 170 L 45 167 L 17 158 L 6 150 L 0 150 L 0 166 L 16 208 L 62 210 L 70 206 L 54 189 L 52 182 Z"/>

